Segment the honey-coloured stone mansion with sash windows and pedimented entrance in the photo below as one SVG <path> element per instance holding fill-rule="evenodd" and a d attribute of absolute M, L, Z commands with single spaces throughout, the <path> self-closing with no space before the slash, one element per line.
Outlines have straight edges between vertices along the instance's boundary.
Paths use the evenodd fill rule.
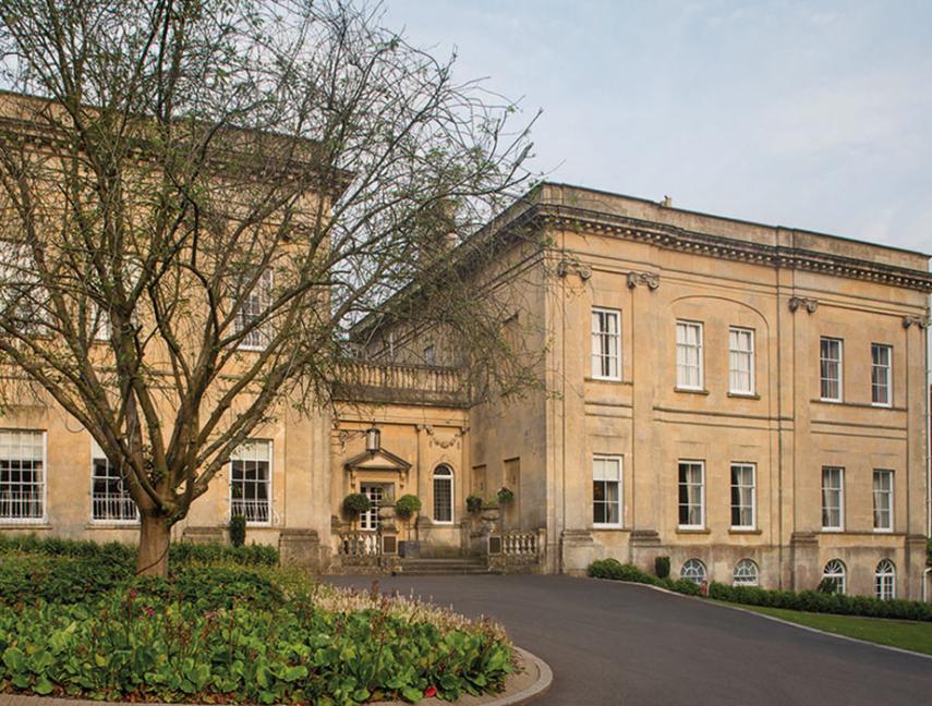
<path fill-rule="evenodd" d="M 560 184 L 485 235 L 523 272 L 516 330 L 545 351 L 544 389 L 472 404 L 441 336 L 370 325 L 332 417 L 258 429 L 178 538 L 221 537 L 239 502 L 251 539 L 322 570 L 404 570 L 403 541 L 422 562 L 668 556 L 697 581 L 923 596 L 928 256 Z M 0 488 L 0 528 L 134 538 L 73 421 L 11 409 L 0 428 L 3 485 L 40 470 L 29 516 Z M 350 521 L 350 492 L 376 507 Z M 419 516 L 394 516 L 403 495 Z"/>

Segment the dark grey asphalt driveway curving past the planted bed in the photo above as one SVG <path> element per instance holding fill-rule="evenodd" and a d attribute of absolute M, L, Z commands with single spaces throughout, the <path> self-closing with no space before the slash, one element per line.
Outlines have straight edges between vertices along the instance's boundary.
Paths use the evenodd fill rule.
<path fill-rule="evenodd" d="M 360 588 L 372 580 L 328 579 Z M 932 704 L 932 659 L 645 586 L 569 576 L 378 581 L 383 592 L 413 591 L 503 623 L 554 670 L 535 704 Z"/>

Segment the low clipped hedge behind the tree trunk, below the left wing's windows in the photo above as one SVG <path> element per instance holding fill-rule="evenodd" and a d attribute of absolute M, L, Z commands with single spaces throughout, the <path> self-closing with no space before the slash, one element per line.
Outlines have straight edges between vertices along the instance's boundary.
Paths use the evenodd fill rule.
<path fill-rule="evenodd" d="M 135 567 L 137 548 L 121 541 L 77 541 L 59 537 L 37 537 L 34 534 L 0 534 L 0 555 L 43 555 L 71 557 Z M 194 544 L 173 541 L 169 547 L 169 564 L 178 563 L 234 563 L 245 567 L 278 565 L 278 548 L 268 545 L 232 547 L 218 543 Z"/>

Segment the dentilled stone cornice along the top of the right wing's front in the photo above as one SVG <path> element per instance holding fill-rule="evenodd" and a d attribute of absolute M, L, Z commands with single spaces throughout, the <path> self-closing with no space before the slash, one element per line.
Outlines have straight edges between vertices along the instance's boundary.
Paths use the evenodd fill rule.
<path fill-rule="evenodd" d="M 825 272 L 836 277 L 881 282 L 925 293 L 932 292 L 932 273 L 907 267 L 797 247 L 752 243 L 689 231 L 666 223 L 554 204 L 537 204 L 533 210 L 538 222 L 552 228 L 603 233 L 707 257 Z"/>

